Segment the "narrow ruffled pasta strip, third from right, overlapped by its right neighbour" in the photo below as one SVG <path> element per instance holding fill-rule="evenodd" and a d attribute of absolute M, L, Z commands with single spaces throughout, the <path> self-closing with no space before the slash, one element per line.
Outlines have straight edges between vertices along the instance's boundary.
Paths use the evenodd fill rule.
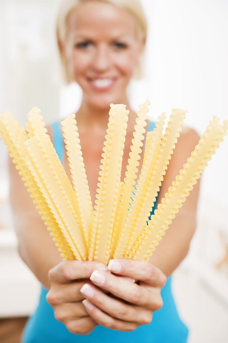
<path fill-rule="evenodd" d="M 157 145 L 160 146 L 161 137 L 162 137 L 162 129 L 164 125 L 165 113 L 162 113 L 161 116 L 158 117 L 158 121 L 156 122 L 156 128 L 152 132 L 147 132 L 146 136 L 146 144 L 145 144 L 145 151 L 144 151 L 144 158 L 143 158 L 143 165 L 141 169 L 141 173 L 139 176 L 138 184 L 136 185 L 136 189 L 134 194 L 132 195 L 132 200 L 129 196 L 126 200 L 128 201 L 128 205 L 130 202 L 130 206 L 125 216 L 123 215 L 121 225 L 119 224 L 119 237 L 118 242 L 115 247 L 115 251 L 113 253 L 114 258 L 121 258 L 124 255 L 124 247 L 126 246 L 125 242 L 130 236 L 130 227 L 134 217 L 134 211 L 137 205 L 137 200 L 140 197 L 140 194 L 143 190 L 144 182 L 146 175 L 149 170 L 149 166 L 151 164 L 151 160 L 153 155 L 155 154 Z"/>

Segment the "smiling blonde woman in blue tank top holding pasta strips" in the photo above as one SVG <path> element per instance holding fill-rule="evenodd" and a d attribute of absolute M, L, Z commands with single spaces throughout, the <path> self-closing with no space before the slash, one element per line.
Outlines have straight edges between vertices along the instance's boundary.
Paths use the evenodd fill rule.
<path fill-rule="evenodd" d="M 138 69 L 146 34 L 146 20 L 137 0 L 64 1 L 59 12 L 57 39 L 65 76 L 83 90 L 76 120 L 93 205 L 110 103 L 123 103 L 130 110 L 121 180 L 124 178 L 136 118 L 126 87 Z M 154 123 L 148 122 L 146 130 L 153 128 Z M 59 122 L 48 131 L 70 177 Z M 158 201 L 198 141 L 194 130 L 182 130 Z M 142 159 L 139 173 L 141 166 Z M 111 260 L 107 268 L 96 261 L 61 262 L 12 165 L 10 172 L 19 253 L 43 285 L 38 308 L 24 330 L 23 343 L 187 341 L 188 329 L 178 316 L 170 275 L 188 253 L 195 230 L 199 184 L 150 262 L 117 259 Z"/>

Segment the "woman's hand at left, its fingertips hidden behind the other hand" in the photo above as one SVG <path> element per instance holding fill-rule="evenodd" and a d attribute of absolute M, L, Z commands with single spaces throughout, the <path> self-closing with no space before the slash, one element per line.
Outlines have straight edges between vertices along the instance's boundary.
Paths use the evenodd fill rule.
<path fill-rule="evenodd" d="M 91 281 L 94 270 L 107 270 L 104 263 L 97 261 L 64 261 L 48 273 L 50 289 L 47 302 L 53 307 L 55 318 L 75 334 L 88 334 L 98 324 L 87 313 L 80 289 Z"/>

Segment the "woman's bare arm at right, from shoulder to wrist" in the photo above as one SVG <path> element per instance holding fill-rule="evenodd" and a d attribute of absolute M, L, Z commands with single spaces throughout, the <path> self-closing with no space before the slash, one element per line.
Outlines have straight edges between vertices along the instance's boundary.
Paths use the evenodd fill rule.
<path fill-rule="evenodd" d="M 194 130 L 183 128 L 171 156 L 172 158 L 169 161 L 170 163 L 160 188 L 158 203 L 164 198 L 168 188 L 172 186 L 172 182 L 179 175 L 180 169 L 187 162 L 187 158 L 195 149 L 199 139 L 199 135 Z M 150 262 L 160 268 L 167 276 L 177 268 L 188 253 L 190 241 L 196 227 L 199 187 L 200 182 L 198 180 L 150 258 Z"/>

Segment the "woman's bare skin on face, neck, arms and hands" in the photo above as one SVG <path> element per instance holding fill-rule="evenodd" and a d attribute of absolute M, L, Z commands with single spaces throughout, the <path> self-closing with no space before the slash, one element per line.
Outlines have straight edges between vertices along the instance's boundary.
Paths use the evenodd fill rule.
<path fill-rule="evenodd" d="M 130 109 L 122 181 L 127 170 L 136 114 L 128 103 L 126 86 L 143 47 L 143 40 L 136 36 L 134 17 L 111 4 L 88 2 L 74 9 L 68 18 L 67 37 L 62 42 L 62 49 L 72 80 L 79 83 L 83 90 L 76 119 L 93 205 L 110 103 L 123 103 Z M 94 89 L 89 82 L 93 78 L 110 77 L 115 78 L 116 82 L 105 91 Z M 48 131 L 51 136 L 49 128 Z M 194 130 L 183 128 L 160 189 L 159 201 L 198 141 L 199 136 Z M 139 173 L 141 166 L 142 158 Z M 66 154 L 64 167 L 70 178 Z M 153 312 L 163 305 L 161 288 L 188 253 L 196 225 L 199 182 L 163 236 L 150 262 L 119 259 L 121 269 L 113 272 L 110 264 L 107 269 L 103 263 L 96 261 L 62 262 L 11 161 L 9 170 L 19 253 L 49 290 L 47 301 L 53 307 L 56 319 L 63 322 L 70 332 L 77 334 L 88 334 L 98 324 L 132 331 L 141 324 L 151 322 Z M 103 277 L 103 284 L 94 280 L 97 273 Z M 139 282 L 133 283 L 128 278 Z M 85 284 L 87 286 L 83 287 Z M 85 289 L 89 289 L 90 296 Z"/>

